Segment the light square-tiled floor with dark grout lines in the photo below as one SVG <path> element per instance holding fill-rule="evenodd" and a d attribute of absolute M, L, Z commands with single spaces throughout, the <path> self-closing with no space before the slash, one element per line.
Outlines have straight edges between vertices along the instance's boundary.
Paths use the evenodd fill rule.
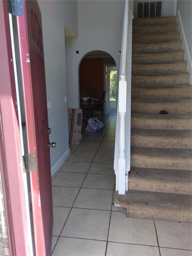
<path fill-rule="evenodd" d="M 126 218 L 114 207 L 116 115 L 105 130 L 88 133 L 52 177 L 52 255 L 191 256 L 191 224 Z M 84 124 L 83 124 L 84 125 Z"/>

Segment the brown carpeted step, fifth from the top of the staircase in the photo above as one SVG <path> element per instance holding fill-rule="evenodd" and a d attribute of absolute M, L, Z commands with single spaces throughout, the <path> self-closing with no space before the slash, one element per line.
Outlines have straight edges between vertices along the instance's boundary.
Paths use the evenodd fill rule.
<path fill-rule="evenodd" d="M 164 55 L 164 56 L 138 56 L 132 57 L 132 63 L 170 63 L 173 61 L 183 61 L 184 55 Z"/>

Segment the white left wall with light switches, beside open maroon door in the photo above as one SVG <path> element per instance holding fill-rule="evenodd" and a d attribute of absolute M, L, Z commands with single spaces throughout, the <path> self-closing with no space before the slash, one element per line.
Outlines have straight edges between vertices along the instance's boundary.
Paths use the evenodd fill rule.
<path fill-rule="evenodd" d="M 38 4 L 42 14 L 47 101 L 51 101 L 49 139 L 56 142 L 56 148 L 50 148 L 55 172 L 69 154 L 64 24 L 78 33 L 77 1 L 40 0 Z"/>

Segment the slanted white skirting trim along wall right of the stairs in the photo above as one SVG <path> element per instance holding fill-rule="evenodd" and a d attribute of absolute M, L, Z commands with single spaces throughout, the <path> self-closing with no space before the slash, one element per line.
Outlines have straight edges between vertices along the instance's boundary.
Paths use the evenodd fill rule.
<path fill-rule="evenodd" d="M 182 25 L 182 20 L 181 20 L 181 15 L 179 10 L 177 11 L 177 23 L 179 24 L 178 30 L 180 31 L 180 40 L 183 41 L 182 44 L 182 50 L 185 51 L 185 55 L 184 55 L 184 60 L 187 61 L 187 68 L 186 68 L 186 72 L 190 73 L 190 77 L 189 77 L 189 85 L 192 84 L 192 64 L 191 64 L 191 56 L 189 54 L 189 49 L 187 46 L 187 41 L 185 38 L 185 34 L 184 34 L 184 29 L 183 29 L 183 25 Z"/>

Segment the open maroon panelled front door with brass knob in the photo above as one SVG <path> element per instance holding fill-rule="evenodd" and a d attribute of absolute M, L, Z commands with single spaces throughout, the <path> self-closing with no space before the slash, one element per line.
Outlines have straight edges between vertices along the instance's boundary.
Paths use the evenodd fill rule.
<path fill-rule="evenodd" d="M 30 172 L 36 255 L 50 255 L 52 187 L 41 11 L 37 1 L 24 1 L 25 16 L 17 17 L 28 153 L 36 155 Z"/>

